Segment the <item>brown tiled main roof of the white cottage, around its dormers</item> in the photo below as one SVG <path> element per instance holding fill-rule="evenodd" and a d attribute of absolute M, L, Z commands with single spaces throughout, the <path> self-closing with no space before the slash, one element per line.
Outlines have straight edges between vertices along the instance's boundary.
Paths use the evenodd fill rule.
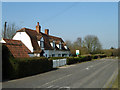
<path fill-rule="evenodd" d="M 22 29 L 18 30 L 17 32 L 26 32 L 29 35 L 34 50 L 37 50 L 37 51 L 41 50 L 37 41 L 39 41 L 42 37 L 44 39 L 44 49 L 45 50 L 53 50 L 53 47 L 50 45 L 50 42 L 52 42 L 52 41 L 55 41 L 56 44 L 59 44 L 59 42 L 61 42 L 62 43 L 62 49 L 61 50 L 66 50 L 64 48 L 65 43 L 62 40 L 62 38 L 47 35 L 47 34 L 42 33 L 42 32 L 37 33 L 36 30 L 31 30 L 31 29 L 28 29 L 28 28 L 22 28 Z M 55 46 L 55 49 L 59 50 L 59 48 L 57 48 L 57 46 Z M 67 50 L 69 50 L 69 48 Z"/>

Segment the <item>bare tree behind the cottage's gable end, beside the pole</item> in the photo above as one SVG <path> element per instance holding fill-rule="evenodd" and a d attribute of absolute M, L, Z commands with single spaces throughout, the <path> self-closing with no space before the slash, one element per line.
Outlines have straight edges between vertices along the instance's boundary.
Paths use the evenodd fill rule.
<path fill-rule="evenodd" d="M 20 28 L 18 26 L 16 26 L 15 23 L 8 24 L 6 26 L 6 31 L 4 29 L 2 30 L 2 37 L 4 38 L 4 33 L 5 33 L 5 38 L 12 39 L 13 35 L 19 29 Z"/>

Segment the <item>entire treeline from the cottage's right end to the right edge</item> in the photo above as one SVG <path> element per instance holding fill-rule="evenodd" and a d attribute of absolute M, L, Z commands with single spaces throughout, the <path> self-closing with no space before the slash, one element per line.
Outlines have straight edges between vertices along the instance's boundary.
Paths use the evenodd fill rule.
<path fill-rule="evenodd" d="M 118 49 L 111 47 L 103 49 L 98 37 L 95 35 L 87 35 L 84 39 L 78 37 L 75 42 L 66 40 L 72 56 L 76 56 L 76 50 L 79 50 L 79 55 L 85 54 L 106 54 L 107 56 L 118 56 Z"/>

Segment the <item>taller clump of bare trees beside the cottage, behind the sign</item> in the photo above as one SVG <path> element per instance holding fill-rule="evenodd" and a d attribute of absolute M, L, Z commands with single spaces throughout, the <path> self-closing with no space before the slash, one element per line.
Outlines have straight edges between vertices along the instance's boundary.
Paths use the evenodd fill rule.
<path fill-rule="evenodd" d="M 67 46 L 70 48 L 71 54 L 76 56 L 76 50 L 80 51 L 80 55 L 84 54 L 98 54 L 101 53 L 102 45 L 97 36 L 87 35 L 84 40 L 78 37 L 75 42 L 66 41 Z"/>

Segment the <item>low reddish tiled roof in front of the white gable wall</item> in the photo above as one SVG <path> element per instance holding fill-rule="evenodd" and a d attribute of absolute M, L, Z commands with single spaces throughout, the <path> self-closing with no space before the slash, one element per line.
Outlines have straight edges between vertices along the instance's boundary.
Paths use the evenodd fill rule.
<path fill-rule="evenodd" d="M 31 51 L 19 40 L 3 39 L 14 58 L 28 58 Z"/>

